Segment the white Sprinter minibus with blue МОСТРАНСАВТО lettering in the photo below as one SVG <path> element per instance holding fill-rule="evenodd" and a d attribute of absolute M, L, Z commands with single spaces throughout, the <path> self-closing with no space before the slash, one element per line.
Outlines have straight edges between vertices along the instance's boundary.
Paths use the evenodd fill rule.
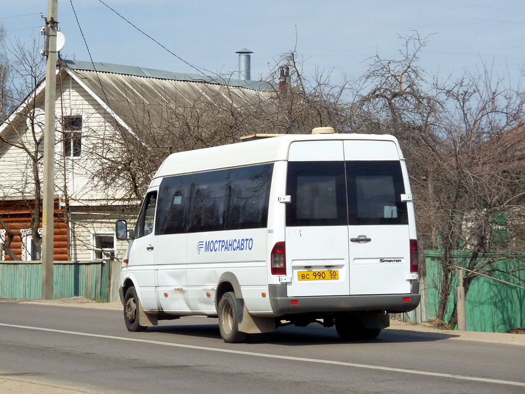
<path fill-rule="evenodd" d="M 317 128 L 174 153 L 134 231 L 116 232 L 131 241 L 130 331 L 202 315 L 228 343 L 310 323 L 372 339 L 419 303 L 412 194 L 388 135 Z"/>

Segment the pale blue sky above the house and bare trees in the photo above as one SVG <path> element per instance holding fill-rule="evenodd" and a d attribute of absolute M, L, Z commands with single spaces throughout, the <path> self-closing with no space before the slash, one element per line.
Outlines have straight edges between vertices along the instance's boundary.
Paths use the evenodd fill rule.
<path fill-rule="evenodd" d="M 71 0 L 94 61 L 195 72 L 124 22 L 98 0 Z M 420 56 L 430 74 L 460 75 L 482 62 L 516 85 L 525 64 L 525 2 L 467 1 L 274 1 L 103 0 L 188 63 L 214 72 L 237 68 L 235 51 L 246 47 L 251 76 L 267 75 L 280 54 L 296 46 L 304 71 L 332 71 L 349 78 L 364 71 L 376 53 L 395 57 L 398 35 L 431 35 Z M 0 24 L 8 39 L 40 38 L 47 0 L 0 0 Z M 27 16 L 11 17 L 34 13 Z M 89 60 L 70 0 L 58 1 L 66 36 L 62 57 Z M 27 29 L 29 28 L 29 29 Z M 18 30 L 24 29 L 24 30 Z M 297 35 L 296 35 L 297 31 Z"/>

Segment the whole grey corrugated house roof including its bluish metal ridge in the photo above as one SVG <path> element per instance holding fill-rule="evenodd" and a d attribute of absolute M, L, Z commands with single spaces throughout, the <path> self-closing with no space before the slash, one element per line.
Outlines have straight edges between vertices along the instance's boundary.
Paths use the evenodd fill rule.
<path fill-rule="evenodd" d="M 196 106 L 264 106 L 275 92 L 263 81 L 225 81 L 105 63 L 95 63 L 93 68 L 90 62 L 79 60 L 66 60 L 65 66 L 132 129 L 145 122 L 150 128 L 161 127 L 175 111 L 191 111 Z"/>

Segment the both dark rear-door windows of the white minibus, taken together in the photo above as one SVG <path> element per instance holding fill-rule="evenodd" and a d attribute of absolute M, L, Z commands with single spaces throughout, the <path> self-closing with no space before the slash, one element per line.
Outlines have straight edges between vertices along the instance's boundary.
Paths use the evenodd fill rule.
<path fill-rule="evenodd" d="M 404 193 L 399 161 L 290 161 L 286 225 L 407 224 Z"/>

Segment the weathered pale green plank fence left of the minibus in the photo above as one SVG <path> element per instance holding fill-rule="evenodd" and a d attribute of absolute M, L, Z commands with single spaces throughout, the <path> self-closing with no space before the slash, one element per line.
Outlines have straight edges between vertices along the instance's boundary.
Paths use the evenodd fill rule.
<path fill-rule="evenodd" d="M 114 265 L 101 261 L 54 262 L 54 298 L 81 296 L 104 302 L 114 300 L 110 266 Z M 0 261 L 0 297 L 40 299 L 41 294 L 42 265 L 39 261 Z"/>

